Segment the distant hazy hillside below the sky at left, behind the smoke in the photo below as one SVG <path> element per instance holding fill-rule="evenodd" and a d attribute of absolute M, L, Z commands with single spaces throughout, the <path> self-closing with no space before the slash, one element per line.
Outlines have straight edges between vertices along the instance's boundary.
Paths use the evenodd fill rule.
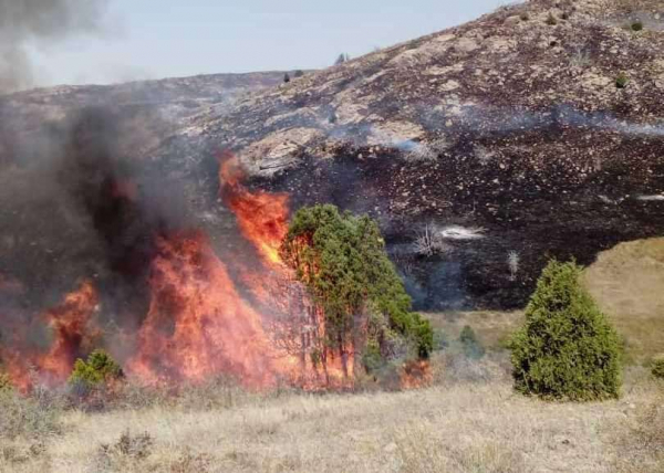
<path fill-rule="evenodd" d="M 243 94 L 278 85 L 283 74 L 211 74 L 0 95 L 0 165 L 50 158 L 51 139 L 66 134 L 72 117 L 91 107 L 111 111 L 133 132 L 142 128 L 126 147 L 137 157 L 186 128 L 196 115 L 219 116 Z"/>

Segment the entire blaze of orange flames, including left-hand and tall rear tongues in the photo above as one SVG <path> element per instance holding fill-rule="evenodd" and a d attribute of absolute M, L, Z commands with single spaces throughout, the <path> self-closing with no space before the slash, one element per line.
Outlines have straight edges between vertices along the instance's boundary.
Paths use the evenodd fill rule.
<path fill-rule="evenodd" d="M 120 327 L 122 336 L 104 338 L 105 346 L 129 379 L 151 386 L 200 383 L 218 376 L 256 389 L 280 382 L 307 389 L 345 386 L 352 354 L 345 369 L 339 354 L 326 348 L 321 354 L 314 340 L 320 345 L 324 339 L 323 318 L 301 287 L 291 290 L 298 285 L 279 255 L 288 231 L 289 196 L 249 191 L 230 154 L 219 165 L 220 197 L 256 249 L 259 264 L 250 266 L 237 254 L 220 257 L 201 229 L 155 234 L 147 313 L 134 314 L 138 326 Z M 113 198 L 138 198 L 132 182 L 114 189 Z M 85 281 L 61 305 L 45 311 L 42 318 L 52 338 L 48 347 L 10 344 L 14 348 L 0 351 L 12 381 L 23 391 L 35 381 L 34 372 L 48 386 L 66 382 L 75 359 L 95 348 L 91 340 L 103 332 L 95 319 L 98 305 L 94 284 Z M 284 334 L 292 339 L 284 341 Z M 27 339 L 27 334 L 18 337 Z"/>

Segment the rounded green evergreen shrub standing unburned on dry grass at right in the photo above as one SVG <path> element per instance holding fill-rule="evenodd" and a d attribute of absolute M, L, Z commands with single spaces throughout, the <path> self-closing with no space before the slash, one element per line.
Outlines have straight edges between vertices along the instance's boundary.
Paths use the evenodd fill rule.
<path fill-rule="evenodd" d="M 574 262 L 551 261 L 510 341 L 515 387 L 575 401 L 618 398 L 621 341 L 579 283 Z"/>

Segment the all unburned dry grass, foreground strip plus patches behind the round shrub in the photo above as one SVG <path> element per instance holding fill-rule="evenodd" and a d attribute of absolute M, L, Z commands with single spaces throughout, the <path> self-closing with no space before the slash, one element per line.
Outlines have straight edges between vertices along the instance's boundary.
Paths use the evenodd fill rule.
<path fill-rule="evenodd" d="M 585 284 L 636 358 L 664 351 L 664 240 L 600 255 Z M 48 396 L 0 402 L 0 472 L 664 473 L 664 383 L 631 368 L 623 397 L 548 403 L 513 392 L 499 347 L 522 313 L 434 314 L 470 325 L 489 354 L 434 358 L 436 386 L 407 392 L 247 393 L 212 382 L 129 387 L 100 412 Z"/>

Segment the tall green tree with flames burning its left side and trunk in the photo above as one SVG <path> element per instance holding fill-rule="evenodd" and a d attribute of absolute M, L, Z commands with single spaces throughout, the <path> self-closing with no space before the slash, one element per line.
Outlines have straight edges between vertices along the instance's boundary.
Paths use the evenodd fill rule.
<path fill-rule="evenodd" d="M 340 213 L 334 206 L 300 209 L 281 253 L 322 315 L 317 357 L 323 368 L 335 354 L 345 376 L 355 353 L 364 353 L 367 369 L 411 354 L 428 357 L 432 327 L 411 312 L 375 221 Z"/>

